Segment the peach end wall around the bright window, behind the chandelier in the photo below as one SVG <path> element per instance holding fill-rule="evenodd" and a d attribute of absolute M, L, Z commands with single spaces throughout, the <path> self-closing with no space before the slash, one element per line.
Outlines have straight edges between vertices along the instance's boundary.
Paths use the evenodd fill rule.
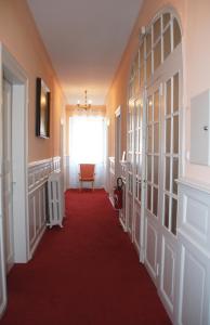
<path fill-rule="evenodd" d="M 106 116 L 106 106 L 104 105 L 97 105 L 97 106 L 92 106 L 91 108 L 93 115 L 96 116 Z M 69 156 L 69 117 L 73 115 L 77 115 L 78 110 L 75 105 L 66 105 L 66 146 L 65 146 L 65 156 Z M 81 112 L 81 114 L 83 114 Z M 89 114 L 89 113 L 88 113 Z"/>

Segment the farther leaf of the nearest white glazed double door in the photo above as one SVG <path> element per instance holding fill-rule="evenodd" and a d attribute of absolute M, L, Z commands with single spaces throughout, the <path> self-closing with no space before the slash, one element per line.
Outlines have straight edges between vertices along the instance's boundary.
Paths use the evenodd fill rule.
<path fill-rule="evenodd" d="M 150 88 L 146 101 L 146 174 L 145 174 L 145 265 L 157 284 L 160 165 L 160 109 L 161 86 Z"/>

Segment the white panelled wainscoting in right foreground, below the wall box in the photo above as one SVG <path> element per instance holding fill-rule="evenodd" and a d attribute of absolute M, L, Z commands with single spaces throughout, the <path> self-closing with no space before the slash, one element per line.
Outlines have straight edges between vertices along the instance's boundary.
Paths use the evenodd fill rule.
<path fill-rule="evenodd" d="M 179 325 L 210 324 L 210 187 L 179 181 Z"/>

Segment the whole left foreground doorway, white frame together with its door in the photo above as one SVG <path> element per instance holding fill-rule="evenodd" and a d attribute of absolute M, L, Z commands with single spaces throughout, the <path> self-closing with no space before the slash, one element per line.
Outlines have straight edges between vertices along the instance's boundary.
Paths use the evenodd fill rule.
<path fill-rule="evenodd" d="M 6 307 L 6 272 L 27 262 L 27 93 L 25 72 L 0 43 L 0 316 Z"/>

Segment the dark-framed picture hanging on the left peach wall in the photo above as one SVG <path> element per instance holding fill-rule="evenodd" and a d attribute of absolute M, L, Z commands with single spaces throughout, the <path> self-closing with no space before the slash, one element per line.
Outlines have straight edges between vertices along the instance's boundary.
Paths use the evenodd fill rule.
<path fill-rule="evenodd" d="M 50 138 L 50 90 L 41 78 L 36 84 L 36 135 Z"/>

